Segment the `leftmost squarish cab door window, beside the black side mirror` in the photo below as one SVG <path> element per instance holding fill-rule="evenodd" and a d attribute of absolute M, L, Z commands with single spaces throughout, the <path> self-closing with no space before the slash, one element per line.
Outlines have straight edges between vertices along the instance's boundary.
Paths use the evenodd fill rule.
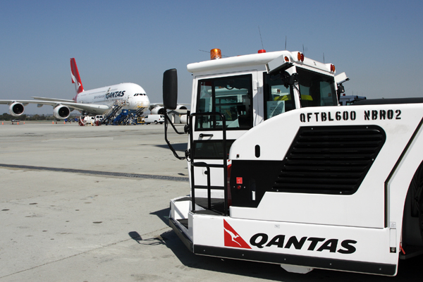
<path fill-rule="evenodd" d="M 197 113 L 225 116 L 226 130 L 252 128 L 252 75 L 236 75 L 198 81 Z M 222 128 L 219 116 L 197 116 L 195 129 Z"/>

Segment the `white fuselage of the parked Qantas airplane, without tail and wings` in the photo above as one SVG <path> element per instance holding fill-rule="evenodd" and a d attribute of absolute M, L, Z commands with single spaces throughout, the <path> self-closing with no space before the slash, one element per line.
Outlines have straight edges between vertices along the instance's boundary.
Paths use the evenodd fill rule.
<path fill-rule="evenodd" d="M 113 105 L 116 101 L 127 102 L 126 109 L 148 109 L 149 99 L 145 90 L 135 83 L 121 83 L 93 90 L 81 92 L 76 97 L 78 104 L 104 104 L 106 106 Z M 93 114 L 98 114 L 98 111 Z"/>

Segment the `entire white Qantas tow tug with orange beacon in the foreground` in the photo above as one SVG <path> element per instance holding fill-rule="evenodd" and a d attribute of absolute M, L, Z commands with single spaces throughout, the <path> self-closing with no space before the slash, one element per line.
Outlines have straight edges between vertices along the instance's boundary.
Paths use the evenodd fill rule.
<path fill-rule="evenodd" d="M 188 65 L 185 157 L 165 123 L 190 172 L 169 222 L 191 252 L 388 276 L 422 253 L 423 99 L 338 106 L 348 79 L 333 64 L 290 51 L 211 54 Z M 177 87 L 166 71 L 168 110 Z"/>

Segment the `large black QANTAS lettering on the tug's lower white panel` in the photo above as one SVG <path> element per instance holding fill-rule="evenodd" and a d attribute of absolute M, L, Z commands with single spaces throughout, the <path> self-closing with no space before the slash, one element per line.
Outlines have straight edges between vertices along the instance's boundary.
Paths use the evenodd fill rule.
<path fill-rule="evenodd" d="M 339 243 L 338 239 L 326 240 L 326 238 L 317 237 L 302 237 L 298 240 L 296 236 L 291 236 L 288 240 L 285 240 L 285 235 L 276 235 L 269 240 L 269 236 L 265 233 L 257 233 L 252 235 L 250 239 L 250 244 L 260 249 L 263 247 L 276 246 L 285 249 L 294 247 L 297 250 L 302 250 L 302 248 L 305 247 L 309 251 L 322 252 L 327 250 L 329 252 L 339 252 L 341 254 L 353 254 L 353 252 L 355 252 L 355 247 L 353 246 L 355 243 L 357 243 L 355 240 L 343 240 Z M 341 246 L 338 247 L 338 245 Z"/>

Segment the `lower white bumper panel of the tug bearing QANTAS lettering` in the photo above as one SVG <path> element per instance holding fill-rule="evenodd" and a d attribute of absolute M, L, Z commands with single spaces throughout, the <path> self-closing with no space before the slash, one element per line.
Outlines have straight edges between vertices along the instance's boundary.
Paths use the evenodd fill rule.
<path fill-rule="evenodd" d="M 398 254 L 389 252 L 389 228 L 373 230 L 369 228 L 340 228 L 337 226 L 278 221 L 246 221 L 231 218 L 224 220 L 226 220 L 240 237 L 245 240 L 245 243 L 250 245 L 251 250 L 257 252 L 276 252 L 304 257 L 314 256 L 331 259 L 348 259 L 350 261 L 379 262 L 381 264 L 396 264 L 398 261 Z M 194 245 L 225 247 L 223 217 L 193 215 L 192 222 L 192 226 L 194 226 L 192 243 Z M 210 236 L 211 233 L 213 233 L 212 236 Z M 257 236 L 256 240 L 254 240 L 253 236 L 258 233 L 266 234 L 267 239 L 266 236 L 263 235 Z M 283 242 L 281 239 L 279 240 L 279 243 L 283 245 L 283 247 L 268 245 L 271 239 L 276 235 L 285 235 Z M 300 249 L 295 248 L 294 245 L 287 246 L 289 238 L 293 236 L 298 240 L 307 237 L 307 240 L 305 240 L 305 243 Z M 313 247 L 312 240 L 308 240 L 309 238 L 322 238 L 324 240 L 319 240 Z M 333 250 L 324 249 L 318 251 L 319 248 L 330 239 L 338 240 L 337 242 L 333 240 L 333 243 L 328 246 L 333 247 Z M 259 244 L 261 240 L 263 240 L 264 243 Z M 348 246 L 353 246 L 355 248 L 353 253 L 342 254 L 339 252 L 339 250 L 347 250 L 341 245 L 344 240 L 356 242 Z M 235 247 L 233 247 L 233 249 L 235 249 Z M 353 248 L 351 248 L 351 251 L 352 250 Z"/>

